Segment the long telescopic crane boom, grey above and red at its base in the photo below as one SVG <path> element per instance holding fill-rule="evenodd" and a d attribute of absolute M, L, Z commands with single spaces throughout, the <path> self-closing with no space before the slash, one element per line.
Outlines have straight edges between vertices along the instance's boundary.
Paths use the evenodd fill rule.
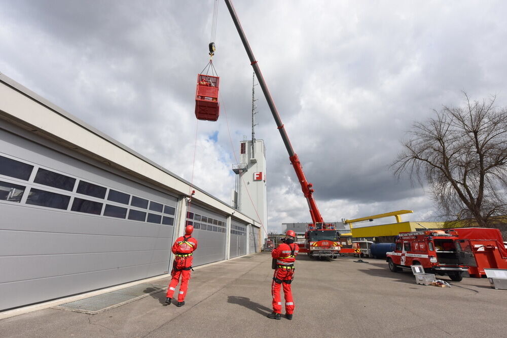
<path fill-rule="evenodd" d="M 268 102 L 269 108 L 271 110 L 271 114 L 273 115 L 273 118 L 275 119 L 276 126 L 278 127 L 278 131 L 280 132 L 280 136 L 282 137 L 283 143 L 285 144 L 285 148 L 287 149 L 287 153 L 289 155 L 289 160 L 291 160 L 291 164 L 294 167 L 294 170 L 296 171 L 296 175 L 298 176 L 299 183 L 301 184 L 301 189 L 303 190 L 303 194 L 306 197 L 306 200 L 308 202 L 308 208 L 310 209 L 310 215 L 312 217 L 312 222 L 315 226 L 315 223 L 323 223 L 322 216 L 320 215 L 320 212 L 317 208 L 317 204 L 315 203 L 315 199 L 313 198 L 313 192 L 312 189 L 312 183 L 308 183 L 306 180 L 305 174 L 303 172 L 303 167 L 301 166 L 301 162 L 299 161 L 299 157 L 296 153 L 294 153 L 294 149 L 292 148 L 291 141 L 289 141 L 287 133 L 285 131 L 285 128 L 283 127 L 282 121 L 280 119 L 280 116 L 278 115 L 278 110 L 276 109 L 275 102 L 273 101 L 273 98 L 271 97 L 271 94 L 269 93 L 268 86 L 266 85 L 266 82 L 264 81 L 264 77 L 262 76 L 261 69 L 259 68 L 259 65 L 257 64 L 257 61 L 255 57 L 253 56 L 253 52 L 250 48 L 250 45 L 248 44 L 248 40 L 246 40 L 245 33 L 243 32 L 243 28 L 241 27 L 241 24 L 239 23 L 238 16 L 236 15 L 236 11 L 234 9 L 234 6 L 231 3 L 231 0 L 225 0 L 225 3 L 227 5 L 227 8 L 229 9 L 229 13 L 231 14 L 232 21 L 234 21 L 234 25 L 236 26 L 236 29 L 238 30 L 239 37 L 241 38 L 241 42 L 243 43 L 243 46 L 245 47 L 246 54 L 248 55 L 248 58 L 250 59 L 251 66 L 253 67 L 253 71 L 255 71 L 257 80 L 259 81 L 259 85 L 262 88 L 262 91 L 264 93 L 264 96 L 266 97 L 266 101 Z"/>

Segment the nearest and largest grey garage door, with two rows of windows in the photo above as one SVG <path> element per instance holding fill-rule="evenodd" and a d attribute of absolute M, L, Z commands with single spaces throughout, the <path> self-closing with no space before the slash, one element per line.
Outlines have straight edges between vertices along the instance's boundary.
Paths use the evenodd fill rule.
<path fill-rule="evenodd" d="M 177 199 L 50 146 L 0 129 L 0 310 L 168 271 Z"/>

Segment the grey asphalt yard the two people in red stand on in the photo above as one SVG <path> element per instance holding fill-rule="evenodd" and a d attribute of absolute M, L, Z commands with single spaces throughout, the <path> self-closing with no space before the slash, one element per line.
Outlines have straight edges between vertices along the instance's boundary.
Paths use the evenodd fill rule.
<path fill-rule="evenodd" d="M 415 283 L 381 259 L 311 260 L 301 254 L 294 319 L 271 312 L 270 252 L 192 273 L 186 305 L 163 306 L 165 291 L 90 315 L 44 309 L 0 320 L 2 337 L 477 337 L 507 335 L 507 290 L 487 279 Z M 168 278 L 154 281 L 167 284 Z M 177 290 L 177 289 L 176 289 Z"/>

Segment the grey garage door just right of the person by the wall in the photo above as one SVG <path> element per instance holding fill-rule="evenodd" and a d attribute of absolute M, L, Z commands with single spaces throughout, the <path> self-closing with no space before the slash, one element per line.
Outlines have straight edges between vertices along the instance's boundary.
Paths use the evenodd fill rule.
<path fill-rule="evenodd" d="M 191 204 L 187 224 L 194 226 L 192 234 L 198 241 L 194 266 L 225 259 L 226 217 L 205 207 Z"/>

